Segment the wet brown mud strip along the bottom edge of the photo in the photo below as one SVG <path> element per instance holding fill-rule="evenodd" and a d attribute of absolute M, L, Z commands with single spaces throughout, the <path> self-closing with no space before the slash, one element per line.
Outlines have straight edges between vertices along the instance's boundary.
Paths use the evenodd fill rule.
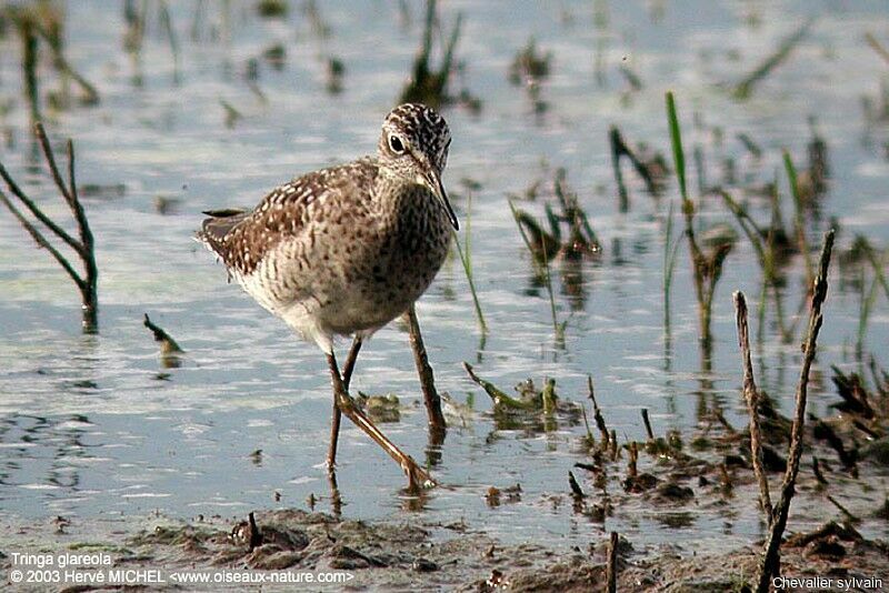
<path fill-rule="evenodd" d="M 46 524 L 7 524 L 2 556 L 6 586 L 47 590 L 47 585 L 14 585 L 10 581 L 12 552 L 22 550 L 103 553 L 110 555 L 114 567 L 164 573 L 228 569 L 352 575 L 347 584 L 313 585 L 316 590 L 603 591 L 606 584 L 608 537 L 600 533 L 590 535 L 587 549 L 559 549 L 533 543 L 505 545 L 466 522 L 429 524 L 406 519 L 369 523 L 301 510 L 257 512 L 254 517 L 256 530 L 247 520 L 219 515 L 193 521 L 153 516 L 90 523 L 57 517 Z M 759 545 L 710 554 L 689 554 L 671 545 L 636 550 L 621 537 L 618 589 L 742 591 L 756 572 L 759 552 Z M 782 546 L 782 566 L 788 579 L 821 579 L 821 584 L 830 579 L 835 587 L 853 583 L 850 591 L 880 591 L 889 584 L 888 555 L 886 542 L 868 540 L 849 524 L 829 522 L 791 534 Z M 261 590 L 286 591 L 292 586 L 263 584 Z M 169 581 L 149 589 L 193 590 Z M 69 584 L 49 590 L 122 587 Z"/>

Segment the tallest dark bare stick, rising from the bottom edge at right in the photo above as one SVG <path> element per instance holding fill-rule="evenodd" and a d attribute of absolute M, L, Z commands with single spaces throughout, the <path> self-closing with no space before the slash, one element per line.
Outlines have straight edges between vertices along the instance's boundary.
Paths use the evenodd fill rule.
<path fill-rule="evenodd" d="M 793 413 L 793 424 L 790 429 L 790 452 L 787 459 L 787 472 L 781 483 L 781 497 L 772 511 L 772 521 L 769 535 L 766 539 L 766 549 L 759 564 L 757 575 L 757 592 L 768 593 L 771 577 L 778 572 L 779 552 L 781 547 L 781 536 L 787 526 L 787 516 L 790 512 L 790 500 L 793 497 L 797 474 L 799 473 L 799 460 L 802 456 L 802 429 L 806 422 L 806 401 L 809 389 L 809 370 L 815 361 L 818 332 L 821 329 L 821 305 L 827 299 L 827 272 L 830 265 L 830 252 L 833 248 L 833 230 L 825 233 L 825 245 L 821 249 L 821 259 L 818 265 L 818 275 L 811 289 L 812 306 L 809 312 L 809 331 L 803 343 L 802 369 L 800 370 L 799 383 L 797 384 L 796 409 Z"/>

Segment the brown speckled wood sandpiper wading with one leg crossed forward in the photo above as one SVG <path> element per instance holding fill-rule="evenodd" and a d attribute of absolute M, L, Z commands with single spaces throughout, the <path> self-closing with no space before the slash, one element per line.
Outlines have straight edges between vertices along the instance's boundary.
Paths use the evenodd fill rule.
<path fill-rule="evenodd" d="M 362 341 L 413 305 L 448 254 L 451 228 L 459 228 L 441 182 L 450 142 L 434 110 L 399 105 L 383 121 L 376 155 L 296 178 L 251 211 L 204 212 L 197 233 L 229 279 L 327 355 L 329 466 L 344 413 L 401 465 L 411 488 L 433 482 L 357 408 L 348 386 Z M 342 374 L 336 335 L 354 335 Z"/>

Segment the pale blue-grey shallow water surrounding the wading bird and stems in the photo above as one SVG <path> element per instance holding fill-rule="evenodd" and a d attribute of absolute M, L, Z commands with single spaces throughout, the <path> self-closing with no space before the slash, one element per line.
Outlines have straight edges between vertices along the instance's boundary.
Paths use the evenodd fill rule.
<path fill-rule="evenodd" d="M 372 150 L 381 118 L 409 71 L 421 10 L 411 4 L 411 22 L 404 26 L 396 2 L 324 2 L 321 16 L 331 34 L 319 38 L 298 3 L 287 20 L 259 19 L 247 2 L 232 2 L 224 19 L 221 4 L 211 3 L 192 39 L 194 6 L 171 4 L 181 46 L 179 82 L 153 11 L 133 60 L 122 48 L 121 7 L 109 10 L 106 2 L 87 1 L 67 7 L 68 57 L 98 87 L 101 103 L 48 112 L 47 127 L 54 139 L 76 140 L 82 184 L 126 187 L 122 195 L 84 198 L 101 273 L 99 335 L 80 333 L 71 283 L 9 215 L 0 215 L 0 505 L 9 516 L 92 516 L 108 510 L 242 516 L 258 506 L 302 505 L 310 493 L 328 492 L 321 463 L 331 396 L 322 356 L 228 285 L 222 268 L 191 241 L 191 233 L 202 210 L 252 205 L 294 174 Z M 860 98 L 877 96 L 886 74 L 862 36 L 887 30 L 889 9 L 878 0 L 841 7 L 803 0 L 462 1 L 442 8 L 446 27 L 458 11 L 465 19 L 458 48 L 463 81 L 483 109 L 479 115 L 461 108 L 444 111 L 455 138 L 446 183 L 463 220 L 468 202 L 460 180 L 481 184 L 472 192 L 471 250 L 490 331 L 482 344 L 462 268 L 451 258 L 418 310 L 439 389 L 461 402 L 472 394 L 477 413 L 466 425 L 452 426 L 433 452 L 440 453 L 434 475 L 452 488 L 430 493 L 422 517 L 466 517 L 513 541 L 587 542 L 600 527 L 572 516 L 570 504 L 551 502 L 568 492 L 566 473 L 585 459 L 578 446 L 582 424 L 562 422 L 549 433 L 497 430 L 488 398 L 461 362 L 472 362 L 482 378 L 506 389 L 528 376 L 538 384 L 553 376 L 559 394 L 577 402 L 585 401 L 589 373 L 621 439 L 645 438 L 640 408 L 650 410 L 658 433 L 677 428 L 688 434 L 713 401 L 741 425 L 731 292 L 743 290 L 756 310 L 756 255 L 749 243 L 739 242 L 727 260 L 715 300 L 708 371 L 697 343 L 685 247 L 669 342 L 663 326 L 663 238 L 668 205 L 678 198 L 675 183 L 655 200 L 627 168 L 631 210 L 619 212 L 608 128 L 618 124 L 631 142 L 643 140 L 669 154 L 663 93 L 673 90 L 690 179 L 691 149 L 699 144 L 708 179 L 720 179 L 722 160 L 733 157 L 739 178 L 761 183 L 780 171 L 786 193 L 780 149 L 790 149 L 801 167 L 810 138 L 807 118 L 816 114 L 829 144 L 832 178 L 819 202 L 820 220 L 809 224 L 812 242 L 836 217 L 841 248 L 856 233 L 885 245 L 889 162 L 881 144 L 887 129 L 866 124 Z M 808 16 L 819 19 L 789 60 L 750 100 L 733 100 L 723 83 L 752 70 Z M 533 114 L 525 91 L 507 80 L 515 52 L 531 36 L 553 54 L 552 74 L 542 83 L 549 104 L 542 115 Z M 286 46 L 286 66 L 277 71 L 260 58 L 263 103 L 248 88 L 244 72 L 248 60 L 273 42 Z M 346 64 L 338 96 L 324 91 L 328 57 Z M 63 203 L 27 132 L 18 60 L 10 31 L 0 40 L 0 102 L 12 100 L 14 107 L 0 124 L 12 141 L 0 147 L 0 160 L 48 213 L 63 218 Z M 638 73 L 640 91 L 628 92 L 621 64 Z M 224 125 L 222 100 L 243 114 L 231 129 Z M 721 143 L 692 125 L 696 112 L 708 128 L 723 130 Z M 760 162 L 737 141 L 741 132 L 762 147 Z M 507 193 L 521 193 L 538 178 L 551 180 L 555 167 L 567 169 L 603 245 L 601 255 L 585 260 L 567 283 L 555 264 L 558 316 L 568 319 L 563 346 L 553 339 L 547 291 L 532 284 L 531 262 L 506 201 Z M 171 213 L 157 212 L 158 197 L 177 200 Z M 541 202 L 519 205 L 542 217 Z M 790 221 L 790 201 L 785 203 Z M 750 204 L 759 220 L 767 220 L 762 200 Z M 702 219 L 730 222 L 712 199 L 706 199 Z M 676 223 L 678 229 L 678 215 Z M 831 278 L 811 393 L 819 414 L 836 401 L 830 365 L 857 368 L 860 291 L 839 281 L 837 265 Z M 801 279 L 796 261 L 785 299 L 791 320 Z M 876 303 L 865 352 L 887 364 L 889 312 L 885 298 Z M 142 328 L 143 313 L 186 349 L 181 368 L 161 368 L 157 344 Z M 755 349 L 760 386 L 789 410 L 799 339 L 781 344 L 771 313 L 763 336 Z M 397 323 L 362 351 L 352 384 L 353 391 L 401 398 L 407 405 L 401 422 L 384 430 L 423 458 L 426 416 L 407 334 Z M 343 428 L 344 513 L 403 513 L 411 501 L 400 493 L 398 469 L 362 433 L 348 423 Z M 251 455 L 256 450 L 261 455 Z M 488 486 L 517 482 L 521 503 L 487 506 Z M 274 492 L 280 502 L 273 501 Z M 682 529 L 670 526 L 658 511 L 619 507 L 608 529 L 635 543 L 697 546 L 748 542 L 760 533 L 752 500 L 731 516 L 720 510 L 689 512 Z"/>

